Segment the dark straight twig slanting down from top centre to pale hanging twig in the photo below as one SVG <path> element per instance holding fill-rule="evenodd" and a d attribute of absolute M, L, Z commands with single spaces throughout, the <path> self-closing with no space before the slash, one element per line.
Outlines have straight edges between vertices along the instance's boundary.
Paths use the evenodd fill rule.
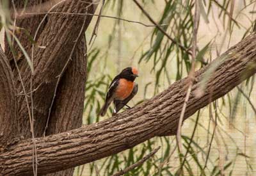
<path fill-rule="evenodd" d="M 134 3 L 138 6 L 138 8 L 140 8 L 140 10 L 144 13 L 144 15 L 146 15 L 146 17 L 148 18 L 148 20 L 150 20 L 150 22 L 152 22 L 157 29 L 159 29 L 159 31 L 161 31 L 165 36 L 167 36 L 167 38 L 169 38 L 174 44 L 177 44 L 180 49 L 182 49 L 183 51 L 187 52 L 189 55 L 191 55 L 191 52 L 186 49 L 186 47 L 182 46 L 181 44 L 179 44 L 179 42 L 175 39 L 173 39 L 170 35 L 168 35 L 168 33 L 166 33 L 166 31 L 164 31 L 164 29 L 160 28 L 157 23 L 154 21 L 154 19 L 152 19 L 152 17 L 150 17 L 150 15 L 145 11 L 145 9 L 141 6 L 140 3 L 138 3 L 137 0 L 133 0 Z"/>

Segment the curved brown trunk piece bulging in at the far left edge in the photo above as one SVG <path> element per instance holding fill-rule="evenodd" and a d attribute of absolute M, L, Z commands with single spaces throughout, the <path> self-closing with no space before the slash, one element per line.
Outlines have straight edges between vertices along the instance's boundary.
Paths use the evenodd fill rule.
<path fill-rule="evenodd" d="M 17 136 L 17 102 L 12 70 L 0 47 L 0 152 Z"/>

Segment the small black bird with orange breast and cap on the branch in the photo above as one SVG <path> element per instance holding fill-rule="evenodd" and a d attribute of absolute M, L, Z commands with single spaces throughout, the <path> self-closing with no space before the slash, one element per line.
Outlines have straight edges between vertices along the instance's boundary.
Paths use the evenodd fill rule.
<path fill-rule="evenodd" d="M 127 106 L 127 102 L 138 92 L 138 84 L 134 83 L 136 77 L 138 77 L 138 70 L 134 67 L 127 67 L 113 79 L 108 88 L 105 104 L 100 109 L 100 116 L 106 114 L 111 102 L 115 105 L 114 113 Z"/>

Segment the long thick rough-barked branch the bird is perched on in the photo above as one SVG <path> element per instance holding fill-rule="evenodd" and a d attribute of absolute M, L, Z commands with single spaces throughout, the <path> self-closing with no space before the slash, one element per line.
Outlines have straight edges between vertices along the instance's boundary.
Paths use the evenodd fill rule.
<path fill-rule="evenodd" d="M 195 96 L 195 89 L 199 84 L 195 81 L 185 119 L 255 74 L 256 68 L 250 67 L 256 62 L 255 46 L 256 35 L 253 33 L 225 52 L 226 57 L 211 63 L 212 65 L 221 61 L 202 97 Z M 196 80 L 202 78 L 207 67 L 195 73 Z M 155 136 L 174 135 L 187 83 L 188 77 L 181 79 L 156 97 L 108 120 L 46 138 L 37 138 L 38 173 L 51 173 L 89 163 L 132 148 Z M 31 174 L 32 145 L 31 140 L 25 140 L 11 146 L 8 152 L 0 154 L 0 173 Z"/>

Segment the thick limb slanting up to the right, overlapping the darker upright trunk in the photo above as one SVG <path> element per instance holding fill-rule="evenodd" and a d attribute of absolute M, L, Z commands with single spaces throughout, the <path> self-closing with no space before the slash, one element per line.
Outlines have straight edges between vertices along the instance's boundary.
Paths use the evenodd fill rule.
<path fill-rule="evenodd" d="M 54 11 L 93 13 L 93 6 L 89 2 L 91 1 L 67 0 L 58 4 Z M 83 26 L 84 18 L 86 18 L 86 23 Z M 76 17 L 76 15 L 70 17 L 65 15 L 58 17 L 49 15 L 44 29 L 40 33 L 40 36 L 38 36 L 38 40 L 36 40 L 35 51 L 33 52 L 35 74 L 32 79 L 33 89 L 36 89 L 36 91 L 33 92 L 33 111 L 35 116 L 35 136 L 37 137 L 42 136 L 44 132 L 56 83 L 58 78 L 63 76 L 62 70 L 69 60 L 68 56 L 72 52 L 74 45 L 80 44 L 82 36 L 79 37 L 78 40 L 77 37 L 82 27 L 84 27 L 82 29 L 83 33 L 92 19 L 91 16 L 85 15 L 84 18 L 81 19 L 80 17 Z M 45 48 L 38 46 L 44 46 Z M 26 92 L 30 92 L 31 70 L 26 60 L 20 61 L 19 67 Z M 17 88 L 19 92 L 22 92 L 22 87 L 19 82 L 17 83 Z M 29 138 L 31 134 L 27 118 L 28 109 L 26 109 L 24 96 L 19 96 L 18 102 L 20 104 L 18 109 L 21 129 L 20 134 L 24 135 L 25 138 Z"/>

